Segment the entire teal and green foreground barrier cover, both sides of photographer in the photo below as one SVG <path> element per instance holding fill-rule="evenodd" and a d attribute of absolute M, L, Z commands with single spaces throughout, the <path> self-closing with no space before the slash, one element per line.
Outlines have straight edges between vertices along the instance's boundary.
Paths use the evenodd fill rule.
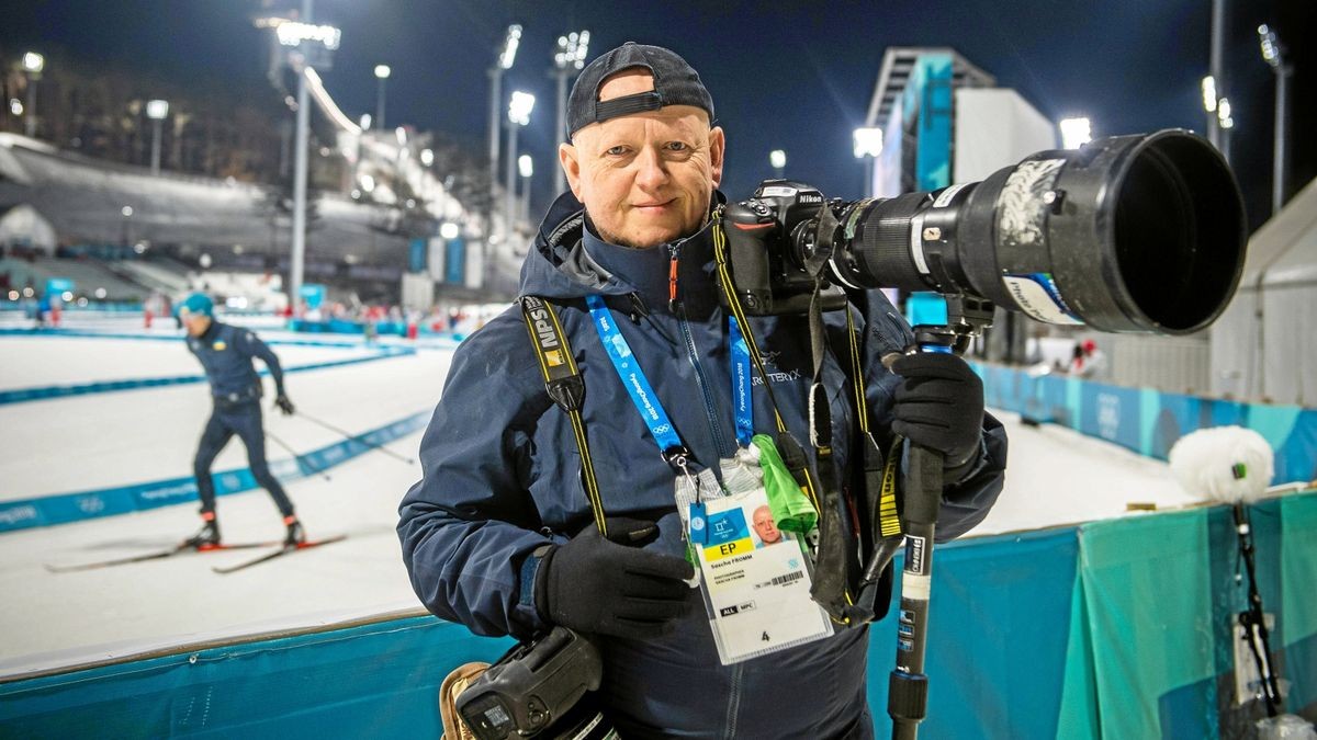
<path fill-rule="evenodd" d="M 1312 719 L 1317 492 L 1251 510 L 1287 708 Z M 1246 736 L 1233 732 L 1264 710 L 1233 700 L 1222 640 L 1243 591 L 1229 516 L 1214 507 L 938 546 L 921 736 Z M 896 614 L 869 629 L 869 706 L 886 737 Z M 0 683 L 0 736 L 436 737 L 444 675 L 510 644 L 408 618 L 12 681 Z"/>

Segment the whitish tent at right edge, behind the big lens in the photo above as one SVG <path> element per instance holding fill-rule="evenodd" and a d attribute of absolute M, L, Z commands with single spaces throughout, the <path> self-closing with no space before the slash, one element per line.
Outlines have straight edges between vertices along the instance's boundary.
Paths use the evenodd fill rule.
<path fill-rule="evenodd" d="M 1212 390 L 1317 406 L 1317 180 L 1249 241 L 1239 290 L 1212 329 Z"/>

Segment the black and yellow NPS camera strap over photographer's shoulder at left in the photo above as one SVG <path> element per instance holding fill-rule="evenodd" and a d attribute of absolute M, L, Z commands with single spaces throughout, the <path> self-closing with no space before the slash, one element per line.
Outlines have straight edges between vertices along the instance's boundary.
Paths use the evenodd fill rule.
<path fill-rule="evenodd" d="M 581 452 L 581 479 L 585 483 L 586 498 L 590 499 L 590 511 L 594 514 L 599 533 L 607 537 L 599 481 L 594 475 L 590 442 L 585 435 L 585 420 L 581 417 L 581 407 L 585 404 L 585 379 L 577 369 L 572 345 L 568 344 L 568 334 L 562 330 L 562 323 L 558 321 L 553 304 L 533 295 L 522 296 L 520 304 L 525 330 L 531 333 L 531 346 L 535 348 L 535 357 L 544 374 L 544 388 L 553 403 L 572 420 L 577 450 Z"/>

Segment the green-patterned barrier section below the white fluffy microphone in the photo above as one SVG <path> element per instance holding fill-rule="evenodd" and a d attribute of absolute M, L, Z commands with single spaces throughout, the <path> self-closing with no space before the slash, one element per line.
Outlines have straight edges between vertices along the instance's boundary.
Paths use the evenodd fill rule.
<path fill-rule="evenodd" d="M 1317 716 L 1317 495 L 1251 506 L 1258 590 L 1275 616 L 1276 674 L 1289 681 L 1283 711 Z M 1303 539 L 1296 535 L 1303 532 Z M 1062 737 L 1251 737 L 1263 702 L 1235 690 L 1234 625 L 1247 608 L 1227 507 L 1097 521 L 1080 528 L 1085 631 L 1071 644 L 1089 673 L 1067 674 L 1065 711 L 1098 718 Z M 1252 665 L 1243 652 L 1245 668 Z M 1071 686 L 1073 683 L 1073 686 Z M 1090 704 L 1085 707 L 1087 704 Z M 1097 732 L 1100 729 L 1100 733 Z"/>

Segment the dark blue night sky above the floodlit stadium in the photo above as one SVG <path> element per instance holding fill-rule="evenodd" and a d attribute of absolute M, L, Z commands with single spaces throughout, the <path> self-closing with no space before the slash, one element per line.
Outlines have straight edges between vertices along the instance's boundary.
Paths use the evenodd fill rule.
<path fill-rule="evenodd" d="M 278 11 L 299 3 L 270 4 Z M 1254 225 L 1270 211 L 1274 120 L 1274 75 L 1258 53 L 1255 28 L 1271 22 L 1289 46 L 1299 67 L 1291 130 L 1312 132 L 1314 5 L 1229 3 L 1233 163 Z M 250 24 L 261 7 L 258 0 L 4 0 L 0 54 L 9 63 L 28 47 L 49 45 L 155 79 L 265 95 L 265 40 Z M 373 70 L 387 63 L 389 125 L 440 129 L 475 151 L 486 146 L 486 70 L 507 24 L 522 24 L 503 90 L 537 97 L 520 134 L 520 150 L 536 162 L 536 211 L 552 195 L 549 167 L 561 136 L 548 76 L 553 45 L 581 28 L 591 32 L 591 58 L 639 41 L 674 49 L 701 72 L 728 137 L 723 190 L 736 198 L 772 175 L 772 149 L 786 150 L 789 176 L 828 196 L 859 196 L 863 175 L 851 130 L 864 121 L 888 46 L 951 46 L 1043 115 L 1092 117 L 1094 136 L 1205 126 L 1198 80 L 1208 71 L 1209 0 L 316 0 L 315 20 L 342 29 L 333 70 L 323 76 L 348 115 L 374 112 Z M 1317 174 L 1317 155 L 1313 137 L 1292 142 L 1293 188 Z"/>

